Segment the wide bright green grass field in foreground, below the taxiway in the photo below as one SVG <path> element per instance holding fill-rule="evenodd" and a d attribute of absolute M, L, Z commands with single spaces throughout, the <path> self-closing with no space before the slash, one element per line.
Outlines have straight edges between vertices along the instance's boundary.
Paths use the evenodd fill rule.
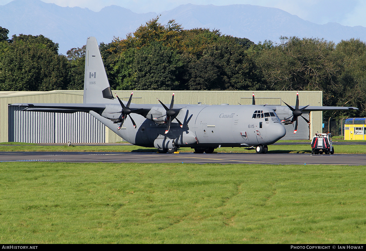
<path fill-rule="evenodd" d="M 1 243 L 365 243 L 364 166 L 0 163 Z"/>

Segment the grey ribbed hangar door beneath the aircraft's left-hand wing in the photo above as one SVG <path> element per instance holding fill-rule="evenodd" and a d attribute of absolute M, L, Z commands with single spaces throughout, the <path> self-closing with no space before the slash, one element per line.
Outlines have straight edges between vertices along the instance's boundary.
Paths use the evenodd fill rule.
<path fill-rule="evenodd" d="M 8 141 L 25 143 L 103 143 L 105 126 L 86 112 L 26 112 L 8 106 Z"/>

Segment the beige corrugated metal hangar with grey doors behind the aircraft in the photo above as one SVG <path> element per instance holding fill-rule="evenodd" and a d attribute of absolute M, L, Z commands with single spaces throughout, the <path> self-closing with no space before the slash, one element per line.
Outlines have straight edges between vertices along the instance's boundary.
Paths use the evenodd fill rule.
<path fill-rule="evenodd" d="M 294 106 L 296 91 L 137 91 L 132 102 L 135 104 L 157 104 L 159 98 L 165 104 L 171 101 L 175 92 L 175 104 L 203 105 L 250 105 L 252 93 L 257 105 Z M 131 91 L 113 91 L 127 101 Z M 300 91 L 300 106 L 322 105 L 321 91 Z M 14 103 L 82 103 L 83 91 L 2 91 L 0 92 L 0 142 L 26 143 L 112 143 L 123 141 L 117 134 L 105 127 L 89 113 L 26 112 L 22 107 L 8 106 Z M 303 113 L 310 120 L 309 125 L 299 119 L 299 128 L 293 133 L 294 125 L 286 125 L 288 132 L 283 139 L 310 139 L 322 132 L 322 112 Z M 281 118 L 282 119 L 282 118 Z"/>

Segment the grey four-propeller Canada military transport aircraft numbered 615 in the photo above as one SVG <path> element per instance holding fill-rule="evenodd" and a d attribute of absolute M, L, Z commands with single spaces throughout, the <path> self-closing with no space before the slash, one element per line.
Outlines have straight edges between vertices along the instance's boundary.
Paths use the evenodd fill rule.
<path fill-rule="evenodd" d="M 169 107 L 133 104 L 114 97 L 95 37 L 87 38 L 83 104 L 11 104 L 27 111 L 89 112 L 105 126 L 131 144 L 155 147 L 160 153 L 173 153 L 180 147 L 195 153 L 212 153 L 217 147 L 244 147 L 267 153 L 271 145 L 285 136 L 284 124 L 295 122 L 302 112 L 349 110 L 355 107 L 299 107 L 296 105 L 175 105 L 174 93 Z M 280 115 L 280 116 L 278 116 Z M 283 120 L 281 121 L 281 118 Z M 305 118 L 303 118 L 305 119 Z M 306 120 L 306 119 L 305 119 Z M 307 123 L 310 124 L 308 120 Z"/>

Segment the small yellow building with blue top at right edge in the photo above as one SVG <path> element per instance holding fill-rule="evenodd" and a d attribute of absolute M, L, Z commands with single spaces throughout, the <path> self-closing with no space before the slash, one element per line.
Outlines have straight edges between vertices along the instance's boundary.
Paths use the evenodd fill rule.
<path fill-rule="evenodd" d="M 365 140 L 366 118 L 346 119 L 344 124 L 344 139 Z"/>

